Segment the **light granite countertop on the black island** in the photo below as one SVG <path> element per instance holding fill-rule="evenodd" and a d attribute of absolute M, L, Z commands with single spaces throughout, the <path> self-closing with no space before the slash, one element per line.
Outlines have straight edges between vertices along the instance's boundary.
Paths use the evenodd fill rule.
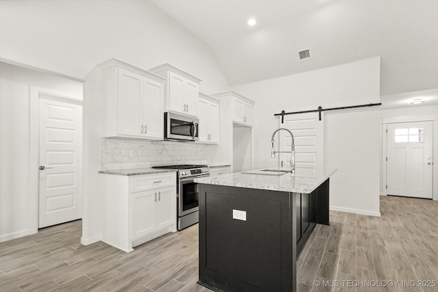
<path fill-rule="evenodd" d="M 263 168 L 263 170 L 290 170 L 287 168 Z M 251 172 L 260 172 L 253 170 Z M 290 172 L 281 175 L 247 174 L 235 172 L 221 176 L 195 178 L 195 183 L 207 185 L 225 185 L 229 187 L 246 187 L 248 189 L 266 189 L 270 191 L 290 191 L 294 193 L 310 194 L 327 178 L 336 172 L 326 168 L 296 168 L 295 175 Z M 263 172 L 261 172 L 263 173 Z"/>

